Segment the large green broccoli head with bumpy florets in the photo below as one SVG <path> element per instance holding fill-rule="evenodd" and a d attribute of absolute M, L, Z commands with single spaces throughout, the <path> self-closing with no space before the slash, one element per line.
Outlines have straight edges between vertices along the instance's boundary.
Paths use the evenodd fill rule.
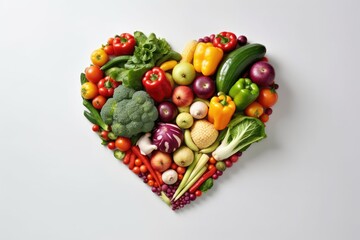
<path fill-rule="evenodd" d="M 158 118 L 153 99 L 145 91 L 135 91 L 123 85 L 117 87 L 101 109 L 102 119 L 116 136 L 131 138 L 150 132 Z"/>

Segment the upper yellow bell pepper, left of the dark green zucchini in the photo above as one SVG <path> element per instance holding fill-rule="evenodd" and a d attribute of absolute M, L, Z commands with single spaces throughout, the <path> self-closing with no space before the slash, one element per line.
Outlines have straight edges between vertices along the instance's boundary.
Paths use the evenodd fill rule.
<path fill-rule="evenodd" d="M 223 55 L 223 50 L 214 47 L 212 43 L 198 43 L 195 48 L 193 60 L 195 71 L 202 73 L 204 76 L 214 74 Z"/>

